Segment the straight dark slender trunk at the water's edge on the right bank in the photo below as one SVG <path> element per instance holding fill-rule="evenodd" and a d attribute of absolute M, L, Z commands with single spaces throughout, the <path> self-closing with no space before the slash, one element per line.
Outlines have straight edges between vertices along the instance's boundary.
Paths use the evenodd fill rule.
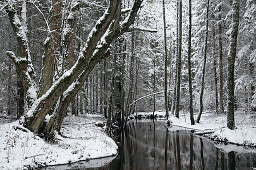
<path fill-rule="evenodd" d="M 193 89 L 192 89 L 192 75 L 191 75 L 191 31 L 192 31 L 192 3 L 189 3 L 189 26 L 188 26 L 188 84 L 190 91 L 190 122 L 191 125 L 195 125 L 194 113 L 193 113 Z"/>

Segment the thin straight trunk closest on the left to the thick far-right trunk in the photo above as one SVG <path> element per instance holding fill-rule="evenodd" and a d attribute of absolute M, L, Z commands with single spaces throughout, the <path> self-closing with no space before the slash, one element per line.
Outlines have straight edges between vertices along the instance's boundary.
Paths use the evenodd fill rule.
<path fill-rule="evenodd" d="M 219 6 L 219 104 L 220 104 L 220 113 L 224 113 L 224 104 L 223 104 L 223 66 L 222 66 L 222 25 L 221 25 L 221 5 Z"/>

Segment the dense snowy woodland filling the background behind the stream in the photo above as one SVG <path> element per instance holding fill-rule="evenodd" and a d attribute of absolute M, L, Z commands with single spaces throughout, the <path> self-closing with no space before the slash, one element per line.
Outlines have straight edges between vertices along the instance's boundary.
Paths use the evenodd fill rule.
<path fill-rule="evenodd" d="M 47 38 L 47 25 L 44 16 L 47 18 L 49 15 L 51 1 L 15 1 L 17 13 L 22 13 L 23 2 L 27 4 L 27 37 L 34 64 L 35 81 L 38 83 L 42 69 L 44 42 Z M 207 2 L 206 0 L 192 1 L 193 110 L 194 112 L 200 110 L 202 73 L 206 57 L 203 111 L 214 110 L 216 113 L 224 113 L 228 95 L 227 66 L 233 1 L 209 1 L 208 14 Z M 153 96 L 144 98 L 131 106 L 130 103 L 147 94 L 164 91 L 166 80 L 167 89 L 171 89 L 167 93 L 168 108 L 170 113 L 174 113 L 176 105 L 176 90 L 174 89 L 177 87 L 176 79 L 180 75 L 179 108 L 184 107 L 183 110 L 188 113 L 190 104 L 188 84 L 189 4 L 188 1 L 182 1 L 182 6 L 179 3 L 180 1 L 165 1 L 163 8 L 163 1 L 143 1 L 143 7 L 139 9 L 137 18 L 131 26 L 140 29 L 130 30 L 111 43 L 110 52 L 107 52 L 106 57 L 101 59 L 94 70 L 90 72 L 82 89 L 76 96 L 73 96 L 68 111 L 73 115 L 95 113 L 106 117 L 107 113 L 128 115 L 137 111 L 153 111 Z M 70 9 L 69 4 L 71 4 L 71 0 L 66 0 L 63 13 Z M 77 27 L 72 65 L 78 59 L 78 54 L 85 45 L 90 30 L 104 13 L 107 4 L 108 1 L 80 1 L 80 10 L 76 11 Z M 122 6 L 125 8 L 130 8 L 131 4 L 132 2 L 129 0 L 122 1 Z M 164 15 L 163 9 L 165 9 Z M 122 14 L 125 15 L 125 13 Z M 182 14 L 182 18 L 180 14 Z M 17 54 L 17 41 L 3 5 L 0 15 L 0 114 L 19 118 L 20 81 L 16 75 L 15 64 L 6 55 L 6 51 L 9 50 Z M 166 23 L 163 22 L 163 19 L 166 20 Z M 240 1 L 239 21 L 235 61 L 235 110 L 245 114 L 255 114 L 255 0 Z M 182 28 L 180 23 L 182 23 Z M 164 34 L 164 24 L 166 25 L 166 34 Z M 59 36 L 63 36 L 64 31 L 64 29 L 60 30 Z M 177 36 L 179 31 L 182 36 Z M 208 39 L 205 41 L 206 31 Z M 180 44 L 178 43 L 179 38 L 182 38 Z M 178 45 L 181 45 L 180 51 Z M 207 45 L 206 52 L 205 45 Z M 111 57 L 108 57 L 109 53 Z M 181 57 L 181 62 L 179 62 L 179 57 Z M 167 70 L 165 70 L 165 62 Z M 167 79 L 165 79 L 165 71 L 167 71 Z M 155 95 L 155 109 L 165 109 L 164 93 Z M 117 117 L 114 116 L 114 118 Z"/>

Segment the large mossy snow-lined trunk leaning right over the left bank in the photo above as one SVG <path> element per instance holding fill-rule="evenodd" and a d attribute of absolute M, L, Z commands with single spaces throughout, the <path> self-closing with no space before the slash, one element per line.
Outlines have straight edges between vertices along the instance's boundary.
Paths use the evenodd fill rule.
<path fill-rule="evenodd" d="M 110 43 L 125 33 L 131 23 L 133 23 L 142 1 L 135 1 L 133 8 L 124 21 L 120 21 L 120 3 L 119 0 L 110 1 L 104 15 L 97 21 L 95 27 L 90 32 L 87 43 L 80 53 L 76 64 L 70 70 L 64 72 L 63 76 L 54 82 L 44 95 L 35 101 L 32 108 L 25 115 L 23 123 L 30 130 L 33 132 L 40 131 L 47 112 L 64 92 L 64 98 L 68 94 L 76 94 L 78 92 L 81 88 L 80 84 L 102 58 Z"/>

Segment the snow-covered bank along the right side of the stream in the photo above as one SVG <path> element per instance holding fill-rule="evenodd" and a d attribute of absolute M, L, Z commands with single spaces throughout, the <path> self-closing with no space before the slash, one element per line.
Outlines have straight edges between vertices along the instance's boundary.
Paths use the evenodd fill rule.
<path fill-rule="evenodd" d="M 137 115 L 151 115 L 151 113 L 137 113 Z M 165 111 L 156 114 L 165 115 Z M 146 116 L 147 117 L 147 116 Z M 197 113 L 194 115 L 197 119 Z M 196 130 L 195 134 L 206 134 L 212 140 L 229 142 L 238 145 L 256 146 L 256 115 L 246 114 L 243 111 L 235 113 L 235 130 L 226 127 L 226 115 L 216 115 L 214 111 L 207 111 L 202 114 L 200 123 L 190 125 L 189 111 L 180 111 L 180 118 L 169 116 L 171 126 L 185 127 Z"/>

